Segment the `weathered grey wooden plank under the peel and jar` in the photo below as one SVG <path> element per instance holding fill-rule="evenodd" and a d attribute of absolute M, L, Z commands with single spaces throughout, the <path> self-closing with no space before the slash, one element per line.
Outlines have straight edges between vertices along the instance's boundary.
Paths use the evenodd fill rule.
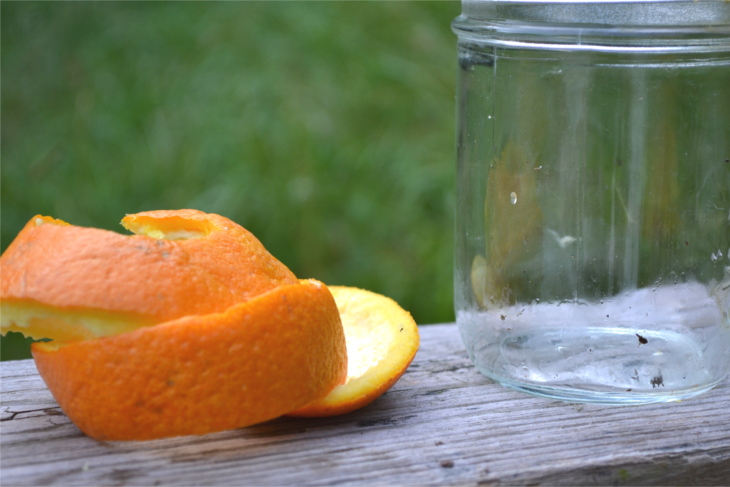
<path fill-rule="evenodd" d="M 32 361 L 2 363 L 2 485 L 727 485 L 730 384 L 692 400 L 577 405 L 504 389 L 454 325 L 421 327 L 382 398 L 326 419 L 102 443 L 60 411 Z"/>

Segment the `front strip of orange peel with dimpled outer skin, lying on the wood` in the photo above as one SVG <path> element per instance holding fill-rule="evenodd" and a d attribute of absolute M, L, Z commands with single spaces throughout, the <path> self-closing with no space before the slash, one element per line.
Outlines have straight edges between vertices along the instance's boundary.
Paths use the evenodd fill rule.
<path fill-rule="evenodd" d="M 32 352 L 63 411 L 97 440 L 267 421 L 326 395 L 347 369 L 337 306 L 313 280 L 224 312 L 94 340 L 35 343 Z"/>

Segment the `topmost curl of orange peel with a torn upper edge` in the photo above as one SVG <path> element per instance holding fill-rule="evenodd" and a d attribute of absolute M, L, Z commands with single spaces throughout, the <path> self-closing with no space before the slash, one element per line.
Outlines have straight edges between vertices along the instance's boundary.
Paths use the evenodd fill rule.
<path fill-rule="evenodd" d="M 0 259 L 2 332 L 62 341 L 114 335 L 298 282 L 248 230 L 219 215 L 149 211 L 122 224 L 137 235 L 32 218 Z"/>

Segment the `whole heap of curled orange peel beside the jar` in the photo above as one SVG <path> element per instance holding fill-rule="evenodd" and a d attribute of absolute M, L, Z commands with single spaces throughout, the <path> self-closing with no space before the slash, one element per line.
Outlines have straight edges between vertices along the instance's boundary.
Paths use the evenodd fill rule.
<path fill-rule="evenodd" d="M 38 371 L 93 438 L 343 414 L 416 353 L 395 302 L 299 280 L 227 218 L 151 211 L 122 225 L 133 235 L 36 216 L 0 257 L 0 331 L 53 339 L 32 346 Z"/>

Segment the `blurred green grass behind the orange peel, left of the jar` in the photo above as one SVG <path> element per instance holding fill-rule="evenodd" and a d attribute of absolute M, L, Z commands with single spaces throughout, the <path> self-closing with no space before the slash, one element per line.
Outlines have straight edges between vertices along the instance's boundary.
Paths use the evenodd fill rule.
<path fill-rule="evenodd" d="M 458 2 L 0 9 L 3 250 L 37 213 L 197 208 L 300 277 L 453 320 Z"/>

